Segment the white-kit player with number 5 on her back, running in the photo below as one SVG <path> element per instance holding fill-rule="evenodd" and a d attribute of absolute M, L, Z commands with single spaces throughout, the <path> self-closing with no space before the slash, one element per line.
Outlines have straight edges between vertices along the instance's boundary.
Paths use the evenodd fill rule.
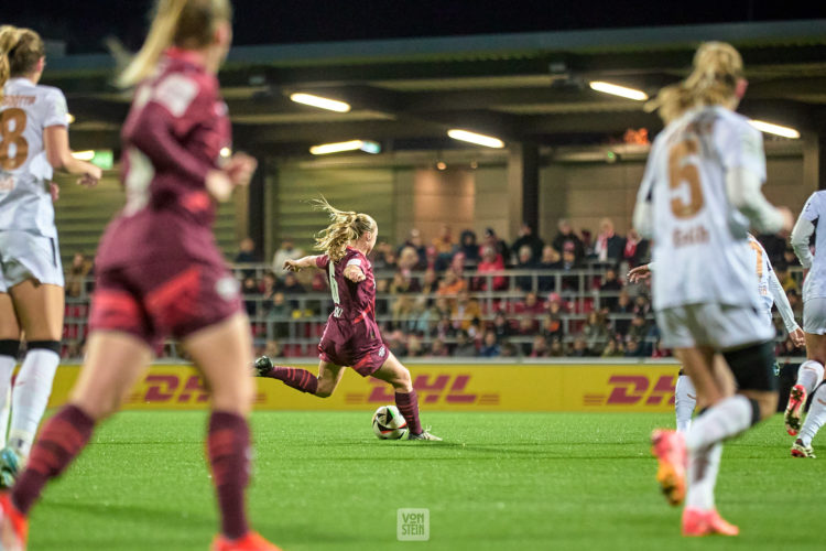
<path fill-rule="evenodd" d="M 697 50 L 691 75 L 653 102 L 666 128 L 651 148 L 634 209 L 634 226 L 654 239 L 653 260 L 664 267 L 652 281 L 663 341 L 708 406 L 685 435 L 652 434 L 663 491 L 674 505 L 686 500 L 684 536 L 739 532 L 714 503 L 722 442 L 771 415 L 778 399 L 774 329 L 760 313 L 748 225 L 789 231 L 792 216 L 760 191 L 762 137 L 735 114 L 746 87 L 732 46 Z M 725 364 L 730 370 L 715 368 Z"/>

